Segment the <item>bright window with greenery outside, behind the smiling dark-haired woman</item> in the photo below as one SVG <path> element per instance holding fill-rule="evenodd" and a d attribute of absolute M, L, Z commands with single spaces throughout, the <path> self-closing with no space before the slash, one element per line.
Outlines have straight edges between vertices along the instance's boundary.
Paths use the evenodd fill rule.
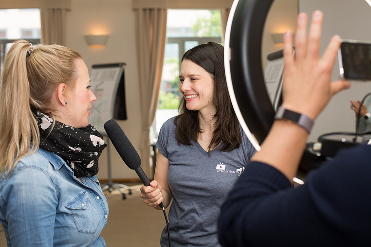
<path fill-rule="evenodd" d="M 193 20 L 193 21 L 191 21 Z M 221 43 L 219 10 L 169 9 L 164 67 L 158 109 L 153 124 L 156 138 L 163 123 L 178 114 L 179 74 L 184 53 L 196 45 L 213 41 Z"/>

